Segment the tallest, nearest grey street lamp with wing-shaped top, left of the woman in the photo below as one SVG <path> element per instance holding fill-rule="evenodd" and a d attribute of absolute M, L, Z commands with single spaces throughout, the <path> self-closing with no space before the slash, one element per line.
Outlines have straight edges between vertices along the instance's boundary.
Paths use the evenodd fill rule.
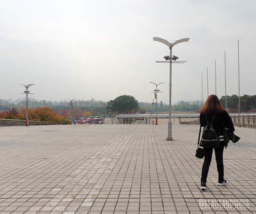
<path fill-rule="evenodd" d="M 171 114 L 172 114 L 172 63 L 184 63 L 184 61 L 176 62 L 176 59 L 179 59 L 179 58 L 176 56 L 172 57 L 172 47 L 181 42 L 188 42 L 188 40 L 189 40 L 189 38 L 183 38 L 181 40 L 177 40 L 173 43 L 170 43 L 167 40 L 164 40 L 163 38 L 159 38 L 159 37 L 153 38 L 153 41 L 164 43 L 164 45 L 167 45 L 170 49 L 170 56 L 164 57 L 164 59 L 166 59 L 166 60 L 170 59 L 170 98 L 169 98 L 169 123 L 168 123 L 168 138 L 167 138 L 168 141 L 172 141 L 172 121 L 171 121 Z"/>

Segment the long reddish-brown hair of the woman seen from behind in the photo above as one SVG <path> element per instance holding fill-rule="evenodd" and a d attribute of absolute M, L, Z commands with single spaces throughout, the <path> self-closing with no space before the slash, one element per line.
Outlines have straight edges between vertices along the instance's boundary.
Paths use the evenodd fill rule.
<path fill-rule="evenodd" d="M 222 107 L 220 100 L 216 95 L 210 95 L 200 111 L 200 113 L 203 114 L 221 114 L 223 112 L 225 112 L 225 109 Z"/>

